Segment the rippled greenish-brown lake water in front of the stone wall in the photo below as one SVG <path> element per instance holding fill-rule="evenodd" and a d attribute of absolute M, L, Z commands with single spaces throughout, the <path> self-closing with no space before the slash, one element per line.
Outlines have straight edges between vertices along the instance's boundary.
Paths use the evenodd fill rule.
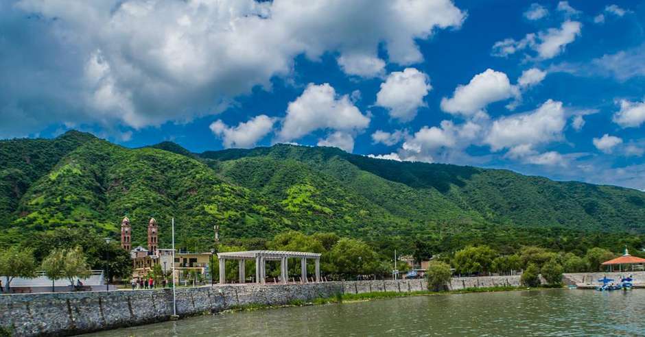
<path fill-rule="evenodd" d="M 645 336 L 645 290 L 404 297 L 199 316 L 93 336 Z"/>

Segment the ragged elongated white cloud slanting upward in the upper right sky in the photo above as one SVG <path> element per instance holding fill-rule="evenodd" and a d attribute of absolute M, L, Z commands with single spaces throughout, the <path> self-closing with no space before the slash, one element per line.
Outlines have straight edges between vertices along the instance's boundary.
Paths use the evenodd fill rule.
<path fill-rule="evenodd" d="M 492 55 L 506 57 L 528 47 L 537 53 L 537 58 L 548 60 L 554 58 L 565 50 L 565 47 L 580 36 L 582 23 L 578 21 L 565 21 L 560 28 L 549 28 L 537 34 L 526 34 L 517 41 L 513 38 L 495 42 Z"/>

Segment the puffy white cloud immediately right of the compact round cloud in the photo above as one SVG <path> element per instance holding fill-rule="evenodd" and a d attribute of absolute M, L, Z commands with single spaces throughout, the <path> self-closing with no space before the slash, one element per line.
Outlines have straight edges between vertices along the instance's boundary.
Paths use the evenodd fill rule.
<path fill-rule="evenodd" d="M 490 103 L 517 95 L 517 88 L 511 86 L 505 73 L 486 69 L 475 75 L 465 86 L 458 86 L 451 98 L 443 97 L 441 110 L 450 114 L 473 116 Z"/>

